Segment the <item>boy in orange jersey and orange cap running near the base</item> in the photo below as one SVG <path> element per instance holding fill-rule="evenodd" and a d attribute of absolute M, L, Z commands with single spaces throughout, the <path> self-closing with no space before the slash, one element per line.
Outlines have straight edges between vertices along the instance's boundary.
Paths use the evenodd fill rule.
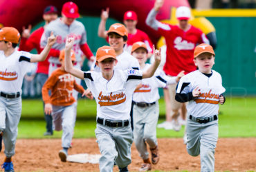
<path fill-rule="evenodd" d="M 54 129 L 62 133 L 62 147 L 59 156 L 62 162 L 66 162 L 68 148 L 71 147 L 73 130 L 75 127 L 75 111 L 73 89 L 84 96 L 84 88 L 75 82 L 75 77 L 68 74 L 64 69 L 64 50 L 60 52 L 60 63 L 62 66 L 57 68 L 46 80 L 42 87 L 42 96 L 45 103 L 44 111 L 46 115 L 53 116 Z M 71 61 L 75 63 L 75 52 L 71 50 Z M 51 90 L 51 96 L 48 95 Z"/>

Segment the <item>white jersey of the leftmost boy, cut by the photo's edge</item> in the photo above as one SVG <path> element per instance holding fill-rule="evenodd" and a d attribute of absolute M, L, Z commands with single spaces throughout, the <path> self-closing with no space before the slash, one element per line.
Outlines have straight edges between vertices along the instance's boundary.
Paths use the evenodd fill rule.
<path fill-rule="evenodd" d="M 15 50 L 6 57 L 0 51 L 0 91 L 5 93 L 21 92 L 24 76 L 33 68 L 30 63 L 31 54 Z"/>

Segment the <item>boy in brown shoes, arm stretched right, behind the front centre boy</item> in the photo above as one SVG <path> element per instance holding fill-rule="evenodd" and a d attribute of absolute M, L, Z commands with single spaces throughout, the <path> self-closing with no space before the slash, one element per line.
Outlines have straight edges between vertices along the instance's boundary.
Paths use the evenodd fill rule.
<path fill-rule="evenodd" d="M 136 42 L 132 45 L 131 54 L 138 59 L 140 69 L 146 71 L 150 65 L 147 61 L 147 46 L 143 42 Z M 148 171 L 152 169 L 152 164 L 159 161 L 158 143 L 156 139 L 156 124 L 159 116 L 158 106 L 158 87 L 178 83 L 179 79 L 184 75 L 179 73 L 177 77 L 168 77 L 165 73 L 158 69 L 154 76 L 145 78 L 136 88 L 133 95 L 133 117 L 134 117 L 134 142 L 136 149 L 143 159 L 140 171 Z M 152 154 L 152 164 L 149 160 L 147 152 L 147 144 Z"/>

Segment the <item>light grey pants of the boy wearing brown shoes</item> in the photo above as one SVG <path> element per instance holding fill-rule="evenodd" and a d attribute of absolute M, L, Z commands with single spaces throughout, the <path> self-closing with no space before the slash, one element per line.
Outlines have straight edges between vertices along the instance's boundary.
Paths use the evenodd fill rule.
<path fill-rule="evenodd" d="M 149 107 L 138 107 L 134 105 L 134 142 L 140 157 L 143 160 L 149 158 L 149 148 L 157 146 L 156 125 L 159 116 L 158 101 Z M 147 144 L 146 144 L 147 142 Z"/>

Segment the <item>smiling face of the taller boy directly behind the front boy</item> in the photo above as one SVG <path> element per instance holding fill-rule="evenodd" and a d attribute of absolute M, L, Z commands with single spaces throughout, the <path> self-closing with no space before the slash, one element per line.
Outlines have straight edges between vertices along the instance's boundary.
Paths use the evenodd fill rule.
<path fill-rule="evenodd" d="M 119 34 L 110 33 L 109 34 L 109 45 L 118 52 L 123 49 L 126 41 Z"/>

